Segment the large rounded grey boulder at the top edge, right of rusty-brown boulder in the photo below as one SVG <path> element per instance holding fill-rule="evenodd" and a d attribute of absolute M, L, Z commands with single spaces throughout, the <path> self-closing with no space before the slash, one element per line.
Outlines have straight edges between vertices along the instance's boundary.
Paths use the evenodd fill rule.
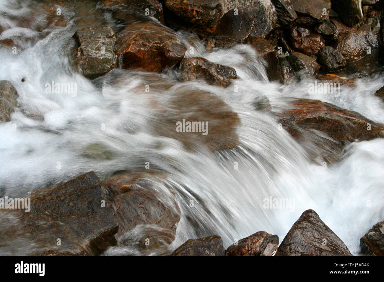
<path fill-rule="evenodd" d="M 275 6 L 270 0 L 232 0 L 217 28 L 217 35 L 242 42 L 245 38 L 264 38 L 277 23 Z"/>

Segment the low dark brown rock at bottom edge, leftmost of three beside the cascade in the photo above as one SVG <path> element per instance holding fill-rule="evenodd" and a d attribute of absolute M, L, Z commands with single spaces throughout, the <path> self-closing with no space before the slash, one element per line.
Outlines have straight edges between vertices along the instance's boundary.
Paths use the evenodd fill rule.
<path fill-rule="evenodd" d="M 224 256 L 225 250 L 220 236 L 189 239 L 175 249 L 171 256 Z"/>

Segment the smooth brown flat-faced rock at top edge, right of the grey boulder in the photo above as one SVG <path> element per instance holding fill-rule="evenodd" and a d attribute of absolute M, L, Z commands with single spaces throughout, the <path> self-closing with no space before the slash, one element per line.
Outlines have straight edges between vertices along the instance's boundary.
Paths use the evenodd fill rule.
<path fill-rule="evenodd" d="M 331 0 L 291 0 L 298 15 L 311 16 L 318 20 L 326 20 L 331 10 Z M 326 9 L 325 13 L 324 10 Z"/>

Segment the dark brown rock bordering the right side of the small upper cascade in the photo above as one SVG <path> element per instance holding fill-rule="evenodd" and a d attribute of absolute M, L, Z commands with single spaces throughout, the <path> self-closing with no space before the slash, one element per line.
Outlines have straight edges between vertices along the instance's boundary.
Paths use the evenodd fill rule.
<path fill-rule="evenodd" d="M 281 75 L 281 69 L 277 52 L 275 48 L 265 39 L 256 38 L 247 41 L 257 51 L 257 56 L 261 56 L 267 63 L 266 74 L 270 81 L 278 80 L 284 83 L 283 76 Z"/>

